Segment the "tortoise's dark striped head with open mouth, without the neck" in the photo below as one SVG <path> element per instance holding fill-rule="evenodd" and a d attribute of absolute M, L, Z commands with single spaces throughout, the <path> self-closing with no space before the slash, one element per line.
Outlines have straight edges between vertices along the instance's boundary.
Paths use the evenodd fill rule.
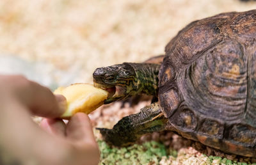
<path fill-rule="evenodd" d="M 128 63 L 97 68 L 93 72 L 93 84 L 109 92 L 108 99 L 104 102 L 109 104 L 136 93 L 136 72 Z"/>

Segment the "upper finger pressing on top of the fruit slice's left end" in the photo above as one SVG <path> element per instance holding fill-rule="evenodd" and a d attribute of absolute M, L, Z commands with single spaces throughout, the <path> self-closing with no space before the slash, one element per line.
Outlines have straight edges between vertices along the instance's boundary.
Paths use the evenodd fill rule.
<path fill-rule="evenodd" d="M 65 97 L 54 94 L 44 86 L 29 81 L 20 75 L 8 76 L 13 94 L 18 97 L 31 113 L 47 118 L 56 118 L 65 112 L 67 102 Z M 8 82 L 6 82 L 8 83 Z"/>

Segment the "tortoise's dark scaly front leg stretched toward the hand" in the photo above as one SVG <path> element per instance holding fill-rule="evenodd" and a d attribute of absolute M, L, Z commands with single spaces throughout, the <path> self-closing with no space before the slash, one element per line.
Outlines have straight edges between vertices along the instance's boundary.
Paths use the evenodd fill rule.
<path fill-rule="evenodd" d="M 125 116 L 113 129 L 99 129 L 103 139 L 115 146 L 127 146 L 143 134 L 165 130 L 168 121 L 159 109 L 158 103 L 143 107 L 140 113 Z"/>

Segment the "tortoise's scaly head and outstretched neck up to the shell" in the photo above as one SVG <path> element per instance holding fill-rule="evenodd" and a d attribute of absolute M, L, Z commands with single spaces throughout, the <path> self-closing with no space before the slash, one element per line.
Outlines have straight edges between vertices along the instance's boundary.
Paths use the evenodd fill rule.
<path fill-rule="evenodd" d="M 94 86 L 110 91 L 105 104 L 139 93 L 157 96 L 159 64 L 122 63 L 97 68 L 93 73 Z"/>

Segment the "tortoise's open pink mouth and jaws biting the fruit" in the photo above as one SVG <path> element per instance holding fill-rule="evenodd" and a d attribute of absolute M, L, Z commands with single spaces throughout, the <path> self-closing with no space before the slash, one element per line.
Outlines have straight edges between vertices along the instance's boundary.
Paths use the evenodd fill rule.
<path fill-rule="evenodd" d="M 122 86 L 109 86 L 108 84 L 93 83 L 96 88 L 102 88 L 108 91 L 108 98 L 105 100 L 105 104 L 120 100 L 125 97 L 126 88 Z"/>

